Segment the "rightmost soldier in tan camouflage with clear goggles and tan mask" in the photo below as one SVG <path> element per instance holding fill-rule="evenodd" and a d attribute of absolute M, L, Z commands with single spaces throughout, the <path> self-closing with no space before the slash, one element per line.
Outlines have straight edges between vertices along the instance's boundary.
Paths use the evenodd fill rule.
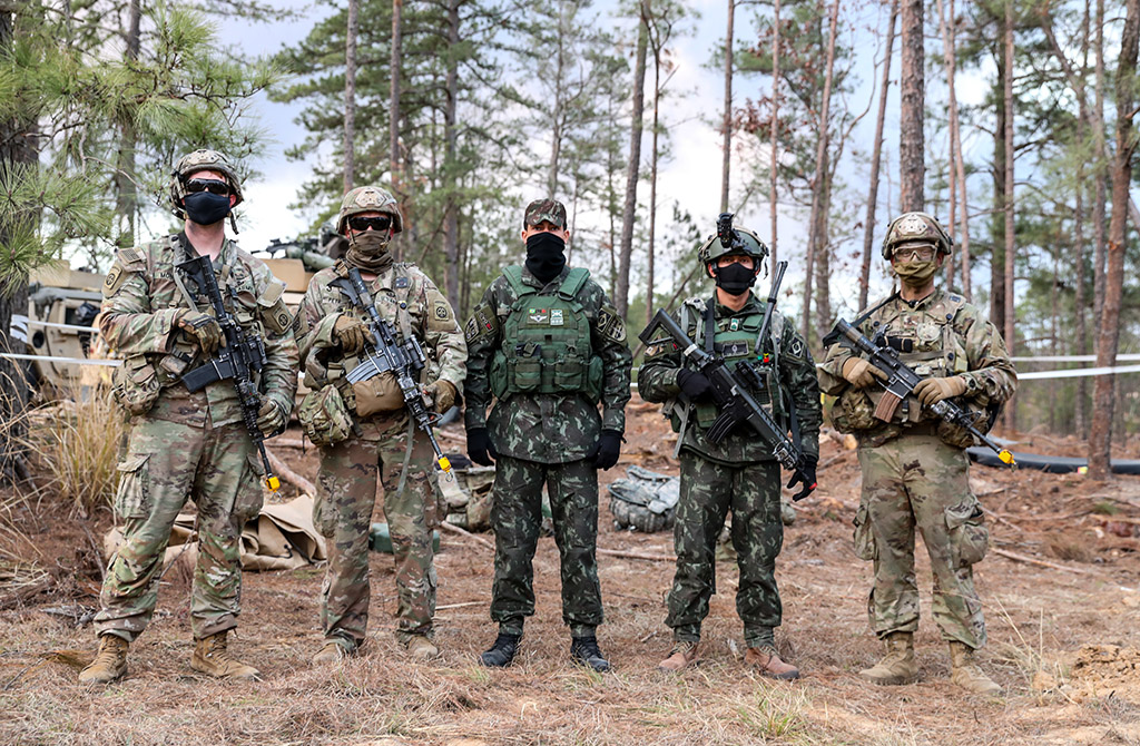
<path fill-rule="evenodd" d="M 860 315 L 868 336 L 882 334 L 917 373 L 927 376 L 889 422 L 873 415 L 885 374 L 850 350 L 833 346 L 821 366 L 824 394 L 838 396 L 832 419 L 858 437 L 863 495 L 855 516 L 855 550 L 874 561 L 868 601 L 871 629 L 887 655 L 860 672 L 877 684 L 914 681 L 914 631 L 919 592 L 914 582 L 914 529 L 922 534 L 934 570 L 934 618 L 950 641 L 951 680 L 978 694 L 1001 687 L 974 662 L 986 642 L 972 565 L 986 552 L 988 532 L 970 492 L 964 430 L 938 420 L 923 405 L 961 397 L 992 417 L 1013 395 L 1017 373 L 997 330 L 959 294 L 936 289 L 934 276 L 952 241 L 936 219 L 907 212 L 887 228 L 882 256 L 899 290 Z M 984 417 L 982 417 L 984 419 Z"/>

